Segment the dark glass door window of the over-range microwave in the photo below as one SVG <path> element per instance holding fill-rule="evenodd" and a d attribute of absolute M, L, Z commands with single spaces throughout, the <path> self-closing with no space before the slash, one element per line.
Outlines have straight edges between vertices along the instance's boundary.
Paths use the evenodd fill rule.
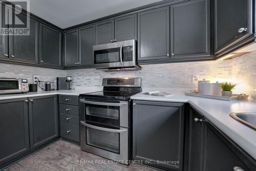
<path fill-rule="evenodd" d="M 120 62 L 120 48 L 94 51 L 94 63 Z"/>

